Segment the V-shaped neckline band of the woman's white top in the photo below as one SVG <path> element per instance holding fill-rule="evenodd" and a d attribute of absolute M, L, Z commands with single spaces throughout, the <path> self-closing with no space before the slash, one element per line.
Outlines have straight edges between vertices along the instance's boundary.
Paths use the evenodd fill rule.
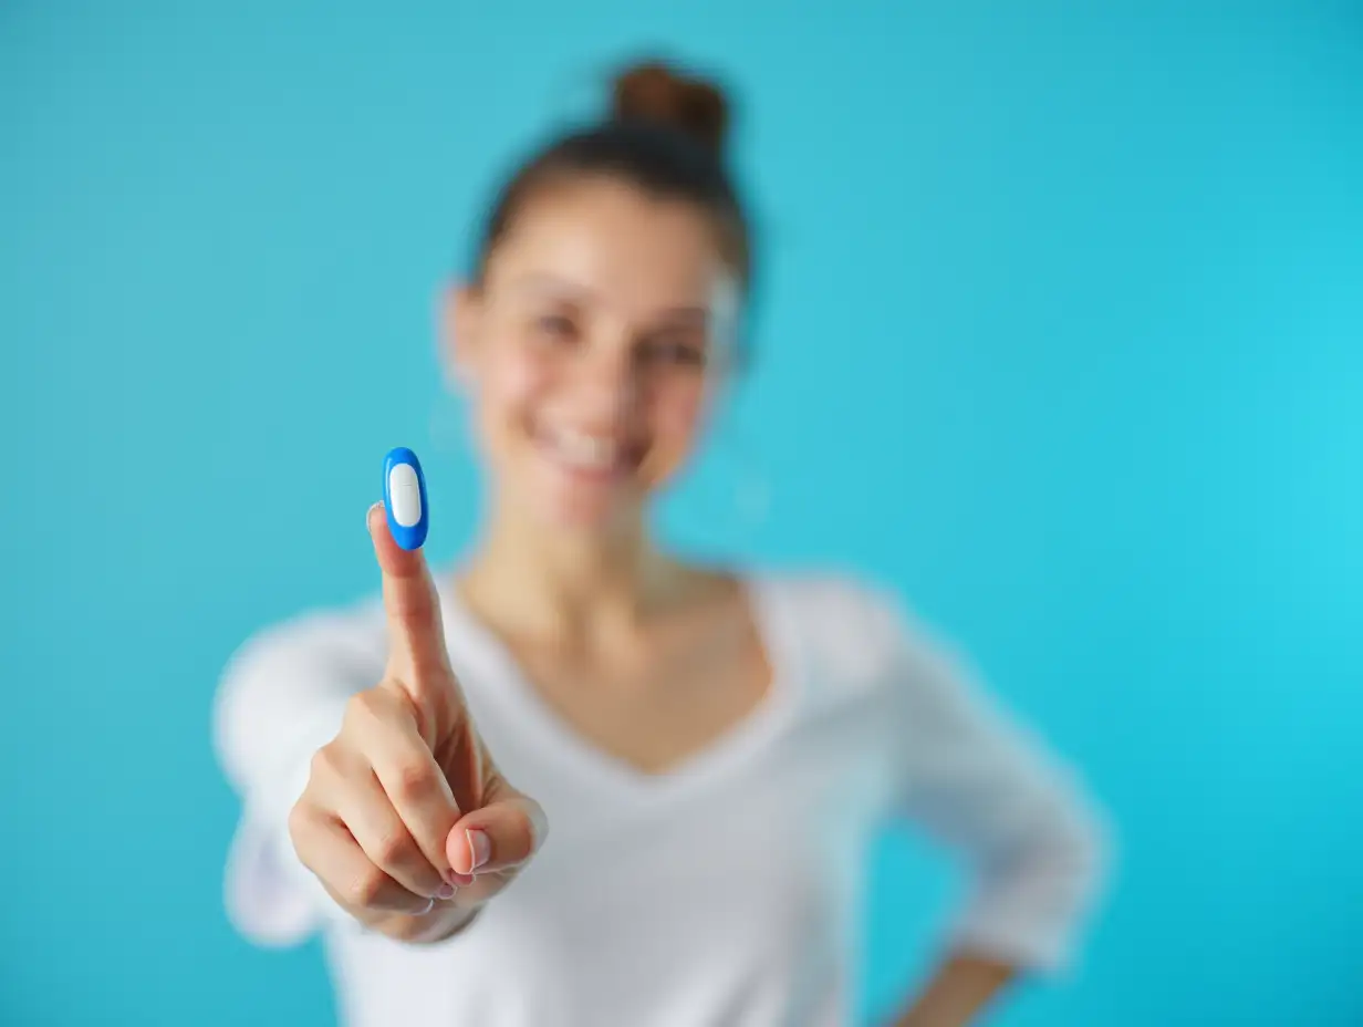
<path fill-rule="evenodd" d="M 743 576 L 740 585 L 771 674 L 766 694 L 741 719 L 662 771 L 645 771 L 608 753 L 553 709 L 506 642 L 463 603 L 450 573 L 440 576 L 436 591 L 444 611 L 447 644 L 453 652 L 466 656 L 472 668 L 483 668 L 496 679 L 497 687 L 489 690 L 493 693 L 489 698 L 514 705 L 518 730 L 538 735 L 602 787 L 647 799 L 736 768 L 762 751 L 792 715 L 801 661 L 799 638 L 781 601 L 781 589 L 773 580 L 756 574 Z"/>

